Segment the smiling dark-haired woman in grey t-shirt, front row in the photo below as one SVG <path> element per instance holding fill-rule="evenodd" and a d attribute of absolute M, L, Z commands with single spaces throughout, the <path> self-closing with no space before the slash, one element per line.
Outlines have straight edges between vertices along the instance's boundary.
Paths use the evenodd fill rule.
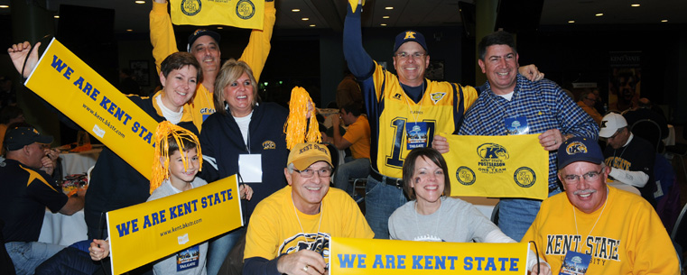
<path fill-rule="evenodd" d="M 475 206 L 450 194 L 446 160 L 433 148 L 417 148 L 404 162 L 404 191 L 411 201 L 389 218 L 394 240 L 452 243 L 515 243 L 482 215 Z M 537 264 L 529 251 L 527 270 Z M 551 274 L 547 264 L 539 274 Z M 536 270 L 536 269 L 535 269 Z M 535 274 L 536 272 L 533 272 Z"/>

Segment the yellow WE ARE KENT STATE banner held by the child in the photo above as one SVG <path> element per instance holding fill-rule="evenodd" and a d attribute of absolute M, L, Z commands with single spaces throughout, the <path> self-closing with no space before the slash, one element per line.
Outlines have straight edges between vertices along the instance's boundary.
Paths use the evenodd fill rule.
<path fill-rule="evenodd" d="M 243 226 L 240 201 L 234 175 L 170 197 L 107 212 L 114 274 Z"/>

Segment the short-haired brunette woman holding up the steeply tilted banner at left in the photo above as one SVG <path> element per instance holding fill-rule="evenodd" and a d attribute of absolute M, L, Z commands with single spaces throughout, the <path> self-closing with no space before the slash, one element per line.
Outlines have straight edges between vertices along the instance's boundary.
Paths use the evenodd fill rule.
<path fill-rule="evenodd" d="M 40 43 L 37 43 L 32 47 L 26 41 L 14 44 L 7 50 L 17 71 L 23 68 L 24 60 L 27 60 L 24 69 L 25 74 L 34 69 L 38 60 L 38 50 L 34 50 L 34 48 L 38 49 L 39 46 Z M 178 124 L 192 133 L 198 133 L 198 129 L 190 119 L 183 119 L 185 115 L 182 113 L 189 111 L 181 107 L 193 95 L 195 79 L 200 78 L 198 61 L 190 53 L 177 52 L 168 56 L 162 64 L 161 76 L 165 79 L 163 82 L 165 83 L 164 89 L 152 97 L 132 95 L 128 96 L 128 99 L 156 122 L 175 121 L 174 124 Z M 186 92 L 187 90 L 190 91 Z M 174 100 L 168 101 L 168 99 Z M 178 111 L 178 113 L 174 111 Z M 177 116 L 177 114 L 179 115 Z M 131 124 L 129 123 L 129 125 Z M 153 131 L 153 129 L 148 129 L 145 132 L 148 131 Z M 91 172 L 91 183 L 86 193 L 84 207 L 84 219 L 88 225 L 88 239 L 107 238 L 106 227 L 100 223 L 106 212 L 143 203 L 150 195 L 150 180 L 116 155 L 110 148 L 105 148 L 100 153 Z M 91 263 L 91 261 L 88 262 Z M 69 264 L 70 261 L 60 261 L 60 263 Z"/>

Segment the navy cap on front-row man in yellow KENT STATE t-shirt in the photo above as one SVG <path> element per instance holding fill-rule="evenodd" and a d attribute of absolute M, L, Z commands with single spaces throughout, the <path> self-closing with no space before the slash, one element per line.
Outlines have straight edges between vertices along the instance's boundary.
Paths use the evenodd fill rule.
<path fill-rule="evenodd" d="M 573 137 L 561 144 L 558 148 L 558 170 L 562 170 L 568 164 L 575 161 L 587 161 L 601 164 L 604 155 L 597 141 L 586 137 Z"/>

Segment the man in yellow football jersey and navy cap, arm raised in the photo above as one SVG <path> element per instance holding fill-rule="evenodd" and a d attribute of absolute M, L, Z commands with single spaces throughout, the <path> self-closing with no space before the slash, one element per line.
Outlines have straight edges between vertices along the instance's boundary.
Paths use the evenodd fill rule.
<path fill-rule="evenodd" d="M 430 54 L 420 32 L 408 30 L 396 35 L 396 74 L 372 60 L 363 48 L 361 4 L 358 1 L 355 12 L 348 8 L 343 49 L 348 69 L 360 83 L 370 122 L 366 218 L 376 238 L 388 239 L 389 216 L 407 201 L 401 179 L 405 156 L 413 148 L 432 146 L 441 151 L 434 143 L 441 136 L 435 134 L 458 133 L 463 114 L 477 98 L 477 91 L 458 83 L 424 78 Z M 528 72 L 529 78 L 543 78 L 532 65 L 521 70 Z"/>

